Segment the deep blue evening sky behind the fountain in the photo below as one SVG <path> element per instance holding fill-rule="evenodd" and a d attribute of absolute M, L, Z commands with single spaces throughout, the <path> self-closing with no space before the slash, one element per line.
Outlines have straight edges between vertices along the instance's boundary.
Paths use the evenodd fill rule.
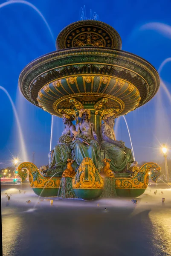
<path fill-rule="evenodd" d="M 10 3 L 12 2 L 12 3 Z M 8 3 L 8 4 L 7 4 Z M 41 15 L 46 19 L 53 37 Z M 171 58 L 171 0 L 121 0 L 121 1 L 58 1 L 30 0 L 29 2 L 0 0 L 0 86 L 10 94 L 17 109 L 23 131 L 28 161 L 48 164 L 51 133 L 51 115 L 28 102 L 18 89 L 20 71 L 30 61 L 55 50 L 58 33 L 68 24 L 80 20 L 81 7 L 86 5 L 99 15 L 99 20 L 113 26 L 122 38 L 122 50 L 145 58 L 158 70 L 163 61 Z M 160 76 L 171 93 L 171 62 L 162 67 Z M 136 160 L 162 161 L 160 143 L 171 147 L 171 96 L 160 88 L 157 95 L 146 105 L 125 116 L 132 137 Z M 52 145 L 61 135 L 64 125 L 54 119 Z M 116 139 L 131 147 L 125 121 L 116 122 Z M 0 90 L 0 163 L 10 165 L 10 160 L 22 152 L 12 105 Z M 171 157 L 171 151 L 168 157 Z"/>

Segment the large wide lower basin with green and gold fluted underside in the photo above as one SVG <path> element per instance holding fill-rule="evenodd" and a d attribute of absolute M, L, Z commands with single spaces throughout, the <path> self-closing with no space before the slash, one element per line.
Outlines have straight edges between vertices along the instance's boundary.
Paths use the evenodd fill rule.
<path fill-rule="evenodd" d="M 60 108 L 72 108 L 74 97 L 84 107 L 107 98 L 105 108 L 118 108 L 120 116 L 154 97 L 159 76 L 148 61 L 129 52 L 75 47 L 29 63 L 20 74 L 19 86 L 26 99 L 53 115 L 61 116 Z"/>

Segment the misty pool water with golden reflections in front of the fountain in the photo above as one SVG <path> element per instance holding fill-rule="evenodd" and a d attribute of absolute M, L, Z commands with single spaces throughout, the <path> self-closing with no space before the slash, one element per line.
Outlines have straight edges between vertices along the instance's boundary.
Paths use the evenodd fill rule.
<path fill-rule="evenodd" d="M 170 188 L 150 185 L 137 204 L 38 198 L 28 186 L 19 189 L 1 193 L 3 255 L 171 255 Z"/>

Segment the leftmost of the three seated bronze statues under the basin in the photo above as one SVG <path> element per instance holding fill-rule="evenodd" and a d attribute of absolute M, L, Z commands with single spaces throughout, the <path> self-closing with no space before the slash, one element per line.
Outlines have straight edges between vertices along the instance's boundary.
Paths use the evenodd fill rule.
<path fill-rule="evenodd" d="M 72 124 L 74 118 L 63 114 L 65 129 L 57 142 L 57 145 L 49 152 L 49 169 L 53 166 L 64 166 L 67 160 L 71 158 L 70 143 L 73 139 L 72 131 L 75 131 L 75 125 Z"/>

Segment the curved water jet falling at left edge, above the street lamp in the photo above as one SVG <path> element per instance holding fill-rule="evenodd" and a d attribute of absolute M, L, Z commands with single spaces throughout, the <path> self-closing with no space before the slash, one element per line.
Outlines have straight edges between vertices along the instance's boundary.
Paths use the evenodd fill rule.
<path fill-rule="evenodd" d="M 23 158 L 23 161 L 26 162 L 28 160 L 27 153 L 26 153 L 26 146 L 25 146 L 25 143 L 24 143 L 23 133 L 22 133 L 22 130 L 21 130 L 20 121 L 19 121 L 19 118 L 18 118 L 18 115 L 17 115 L 17 111 L 16 111 L 16 108 L 14 106 L 14 102 L 12 101 L 11 96 L 9 95 L 9 93 L 7 92 L 7 90 L 4 87 L 0 86 L 0 89 L 3 90 L 4 93 L 6 93 L 6 95 L 9 98 L 9 101 L 11 102 L 12 110 L 14 112 L 14 116 L 15 116 L 15 119 L 16 119 L 16 122 L 17 122 L 17 127 L 18 127 L 18 132 L 19 132 L 19 137 L 20 137 L 20 146 L 21 146 L 21 149 L 22 149 L 22 158 Z"/>

